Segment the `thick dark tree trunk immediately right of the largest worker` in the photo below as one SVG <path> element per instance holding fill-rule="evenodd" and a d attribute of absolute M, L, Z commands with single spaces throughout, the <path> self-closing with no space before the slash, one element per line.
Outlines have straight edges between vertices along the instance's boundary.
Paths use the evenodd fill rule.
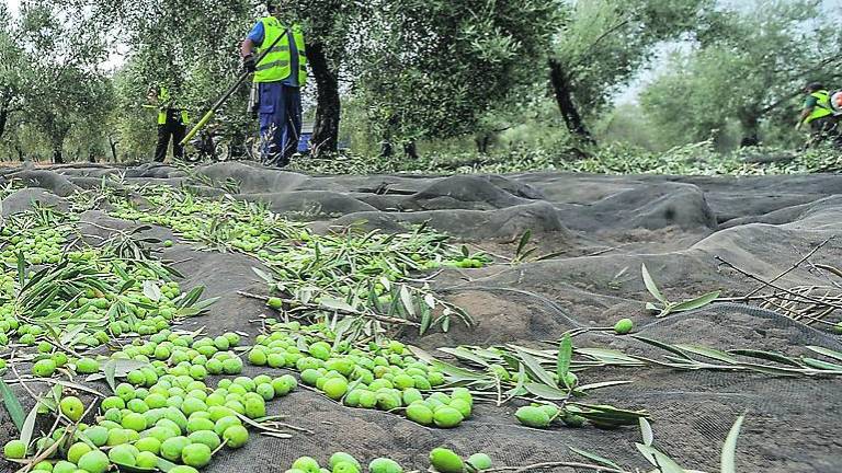
<path fill-rule="evenodd" d="M 316 78 L 316 124 L 310 138 L 312 155 L 334 153 L 339 147 L 339 71 L 331 69 L 321 43 L 307 45 L 307 59 Z"/>

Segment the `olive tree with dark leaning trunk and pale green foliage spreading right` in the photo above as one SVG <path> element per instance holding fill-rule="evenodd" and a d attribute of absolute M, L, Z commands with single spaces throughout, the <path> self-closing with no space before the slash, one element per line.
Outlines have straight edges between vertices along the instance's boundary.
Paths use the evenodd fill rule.
<path fill-rule="evenodd" d="M 710 0 L 590 0 L 572 4 L 555 36 L 549 83 L 571 134 L 593 142 L 587 125 L 648 65 L 664 41 L 705 33 Z"/>

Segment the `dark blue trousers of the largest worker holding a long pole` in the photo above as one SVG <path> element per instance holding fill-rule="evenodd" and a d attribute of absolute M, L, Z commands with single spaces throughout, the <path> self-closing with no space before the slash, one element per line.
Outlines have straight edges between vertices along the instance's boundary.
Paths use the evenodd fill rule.
<path fill-rule="evenodd" d="M 301 136 L 301 94 L 283 82 L 259 84 L 261 158 L 270 165 L 285 166 L 298 149 Z"/>

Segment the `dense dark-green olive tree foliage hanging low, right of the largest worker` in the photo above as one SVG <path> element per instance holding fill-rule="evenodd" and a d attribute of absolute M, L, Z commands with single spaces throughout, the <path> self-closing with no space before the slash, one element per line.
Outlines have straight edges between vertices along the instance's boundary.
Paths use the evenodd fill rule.
<path fill-rule="evenodd" d="M 561 1 L 377 0 L 350 56 L 354 91 L 376 136 L 394 142 L 470 134 L 532 80 Z"/>

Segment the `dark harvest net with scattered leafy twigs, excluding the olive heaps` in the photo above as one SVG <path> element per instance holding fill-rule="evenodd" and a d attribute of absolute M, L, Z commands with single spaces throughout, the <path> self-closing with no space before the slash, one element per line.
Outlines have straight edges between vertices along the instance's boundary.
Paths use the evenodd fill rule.
<path fill-rule="evenodd" d="M 675 471 L 650 464 L 635 446 L 651 443 L 687 471 L 710 472 L 719 471 L 725 439 L 741 415 L 737 471 L 842 471 L 842 358 L 837 358 L 842 339 L 835 331 L 842 321 L 842 176 L 319 176 L 220 163 L 9 169 L 0 178 L 7 228 L 49 227 L 53 217 L 45 212 L 75 216 L 67 220 L 75 236 L 62 241 L 67 246 L 61 255 L 54 252 L 55 261 L 26 258 L 32 247 L 11 251 L 19 243 L 13 240 L 18 230 L 3 233 L 9 298 L 23 293 L 13 287 L 19 253 L 36 273 L 60 264 L 71 247 L 111 245 L 123 255 L 151 251 L 175 272 L 162 279 L 150 273 L 149 280 L 172 278 L 182 292 L 204 287 L 201 298 L 214 301 L 180 312 L 189 316 L 177 316 L 173 330 L 203 330 L 212 337 L 237 332 L 247 347 L 272 328 L 266 318 L 335 323 L 344 316 L 363 324 L 360 338 L 380 331 L 378 337 L 418 347 L 422 361 L 440 364 L 446 378 L 442 390 L 466 385 L 474 392 L 471 415 L 445 429 L 410 422 L 400 409 L 349 407 L 299 382 L 288 395 L 266 403 L 269 414 L 284 416 L 287 426 L 278 430 L 287 435 L 254 430 L 246 447 L 219 450 L 203 471 L 285 471 L 301 455 L 323 461 L 335 451 L 365 463 L 388 457 L 407 471 L 425 470 L 430 450 L 440 446 L 466 457 L 482 451 L 494 468 Z M 195 217 L 183 210 L 193 205 L 185 204 L 185 196 L 191 203 L 223 203 L 260 215 L 265 228 L 283 230 L 271 240 L 244 238 L 220 215 L 198 216 L 191 230 L 183 227 Z M 317 262 L 350 258 L 351 250 L 337 250 L 343 238 L 355 235 L 349 245 L 363 247 L 374 238 L 365 235 L 390 234 L 428 240 L 423 249 L 400 238 L 382 241 L 384 246 L 371 251 L 405 242 L 407 254 L 395 261 L 406 256 L 407 263 L 356 267 L 344 276 L 323 266 L 311 274 L 312 264 L 289 259 L 319 239 L 326 239 L 323 249 L 316 244 L 310 255 Z M 270 247 L 273 242 L 277 246 Z M 357 286 L 348 291 L 325 282 L 326 274 Z M 374 275 L 377 296 L 367 297 L 374 286 L 359 275 Z M 395 297 L 385 301 L 392 288 L 384 285 L 383 275 L 396 286 Z M 285 280 L 293 276 L 300 280 Z M 149 295 L 146 282 L 138 287 Z M 344 303 L 335 302 L 337 295 L 348 296 Z M 682 305 L 703 295 L 712 297 Z M 283 303 L 269 307 L 273 297 Z M 321 305 L 311 299 L 319 297 Z M 103 314 L 113 322 L 110 310 Z M 37 325 L 37 314 L 16 314 Z M 630 334 L 613 330 L 621 319 L 634 322 Z M 5 332 L 9 367 L 3 378 L 29 413 L 35 404 L 31 394 L 55 383 L 29 374 L 35 347 L 21 343 L 13 330 Z M 555 379 L 549 383 L 555 389 L 523 388 L 557 372 L 559 341 L 566 334 L 572 341 L 576 383 Z M 70 346 L 72 358 L 88 351 L 109 356 L 136 337 L 126 331 L 101 344 L 58 338 Z M 236 353 L 248 358 L 246 349 Z M 543 366 L 544 374 L 532 361 Z M 502 365 L 511 381 L 489 377 L 490 365 Z M 244 362 L 242 374 L 261 373 L 299 377 L 300 370 Z M 105 381 L 73 374 L 67 370 L 56 378 L 111 393 Z M 206 382 L 219 379 L 212 376 Z M 577 385 L 596 383 L 606 384 L 585 389 L 585 397 L 573 395 L 583 393 Z M 86 404 L 98 400 L 59 385 Z M 502 402 L 507 397 L 512 399 Z M 590 422 L 577 428 L 558 422 L 549 428 L 527 427 L 514 413 L 530 402 L 645 411 L 653 441 L 645 441 L 637 418 L 616 427 L 583 414 Z M 94 407 L 86 419 L 93 423 L 95 415 Z M 20 436 L 8 411 L 0 409 L 0 442 Z M 53 427 L 48 414 L 38 416 L 33 439 Z M 22 464 L 5 462 L 0 470 Z"/>

